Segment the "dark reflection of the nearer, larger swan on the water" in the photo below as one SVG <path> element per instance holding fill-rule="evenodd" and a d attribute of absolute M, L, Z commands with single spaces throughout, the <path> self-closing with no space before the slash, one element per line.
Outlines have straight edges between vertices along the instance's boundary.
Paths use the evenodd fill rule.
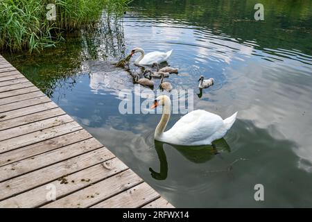
<path fill-rule="evenodd" d="M 164 144 L 155 140 L 155 150 L 159 159 L 160 171 L 157 173 L 151 167 L 148 169 L 155 180 L 166 180 L 168 176 L 168 162 L 166 153 L 164 152 Z M 173 144 L 169 144 L 169 146 L 175 148 L 187 160 L 194 163 L 204 163 L 211 160 L 215 155 L 220 154 L 220 152 L 231 151 L 224 138 L 218 139 L 211 145 L 206 146 L 178 146 Z"/>

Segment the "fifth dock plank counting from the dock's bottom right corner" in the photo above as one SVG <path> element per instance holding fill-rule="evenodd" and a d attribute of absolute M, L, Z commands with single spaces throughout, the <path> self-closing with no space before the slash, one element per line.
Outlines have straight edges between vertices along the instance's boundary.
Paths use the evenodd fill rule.
<path fill-rule="evenodd" d="M 107 148 L 103 147 L 23 176 L 6 180 L 0 183 L 0 200 L 39 187 L 67 174 L 92 167 L 113 157 L 114 155 Z"/>

